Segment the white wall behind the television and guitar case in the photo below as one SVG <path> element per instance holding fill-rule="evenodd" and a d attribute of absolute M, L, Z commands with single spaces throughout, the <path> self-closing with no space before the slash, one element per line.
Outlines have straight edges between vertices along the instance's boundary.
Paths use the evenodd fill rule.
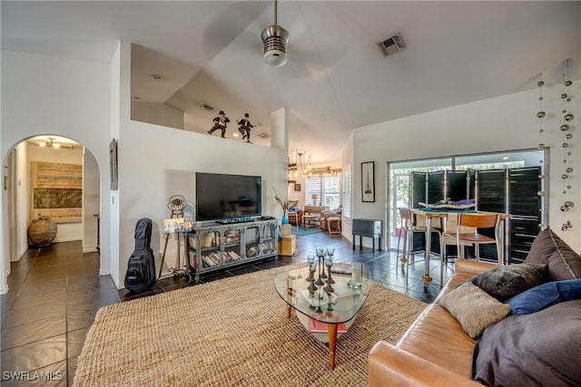
<path fill-rule="evenodd" d="M 286 189 L 285 150 L 242 141 L 224 140 L 191 131 L 172 131 L 139 121 L 122 126 L 119 139 L 120 258 L 124 276 L 134 249 L 134 229 L 140 218 L 154 223 L 152 248 L 162 252 L 164 218 L 170 218 L 168 199 L 182 195 L 195 201 L 195 172 L 230 173 L 262 177 L 262 213 L 281 217 L 272 189 Z M 175 240 L 170 240 L 166 264 L 174 266 Z M 169 262 L 168 262 L 169 261 Z M 158 270 L 159 270 L 158 259 Z M 167 265 L 166 265 L 167 266 Z M 165 269 L 165 268 L 164 268 Z M 115 280 L 123 283 L 123 278 Z"/>

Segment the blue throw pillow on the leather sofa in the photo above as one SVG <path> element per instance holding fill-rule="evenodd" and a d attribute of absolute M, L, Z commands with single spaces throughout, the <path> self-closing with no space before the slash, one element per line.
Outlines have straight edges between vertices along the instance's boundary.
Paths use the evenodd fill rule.
<path fill-rule="evenodd" d="M 510 314 L 532 314 L 548 306 L 581 299 L 581 279 L 547 282 L 505 301 Z"/>

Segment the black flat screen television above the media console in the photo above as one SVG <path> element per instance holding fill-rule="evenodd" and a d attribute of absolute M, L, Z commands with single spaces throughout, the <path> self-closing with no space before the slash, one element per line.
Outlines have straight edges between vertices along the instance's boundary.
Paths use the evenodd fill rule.
<path fill-rule="evenodd" d="M 260 176 L 196 173 L 196 221 L 261 216 Z"/>

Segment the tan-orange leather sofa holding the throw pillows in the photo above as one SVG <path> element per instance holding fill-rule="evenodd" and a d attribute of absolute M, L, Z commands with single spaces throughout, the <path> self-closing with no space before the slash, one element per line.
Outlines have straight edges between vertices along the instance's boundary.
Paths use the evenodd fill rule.
<path fill-rule="evenodd" d="M 474 339 L 464 332 L 439 300 L 460 283 L 497 265 L 456 261 L 456 274 L 395 346 L 376 343 L 368 357 L 368 385 L 480 386 L 470 380 Z"/>

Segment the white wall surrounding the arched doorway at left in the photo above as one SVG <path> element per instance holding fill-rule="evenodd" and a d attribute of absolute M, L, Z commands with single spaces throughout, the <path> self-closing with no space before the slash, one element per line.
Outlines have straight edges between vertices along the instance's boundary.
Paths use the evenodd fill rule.
<path fill-rule="evenodd" d="M 0 156 L 37 134 L 54 133 L 83 144 L 100 166 L 101 181 L 109 181 L 109 128 L 111 125 L 111 63 L 56 58 L 32 53 L 2 51 L 2 118 Z M 103 168 L 104 167 L 104 168 Z M 102 203 L 108 205 L 108 195 Z M 105 191 L 107 192 L 107 191 Z M 3 200 L 4 201 L 4 200 Z M 3 203 L 4 215 L 4 203 Z M 108 216 L 108 213 L 107 213 Z M 104 220 L 105 224 L 109 218 Z M 4 235 L 3 230 L 3 235 Z M 6 246 L 0 248 L 6 270 Z M 109 266 L 109 254 L 101 256 Z M 6 290 L 5 277 L 0 292 Z"/>

